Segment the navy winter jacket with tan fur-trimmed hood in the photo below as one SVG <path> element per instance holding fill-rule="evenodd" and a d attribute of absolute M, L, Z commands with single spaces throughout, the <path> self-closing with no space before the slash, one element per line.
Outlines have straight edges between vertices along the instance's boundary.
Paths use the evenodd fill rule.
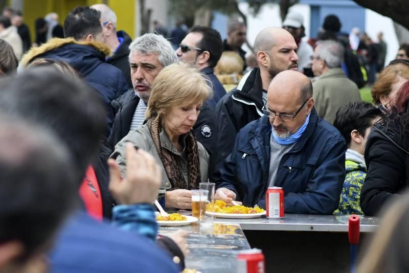
<path fill-rule="evenodd" d="M 37 58 L 63 60 L 71 64 L 85 82 L 94 87 L 103 99 L 107 109 L 108 134 L 115 117 L 111 102 L 128 90 L 128 83 L 122 71 L 105 62 L 109 54 L 110 49 L 100 42 L 54 38 L 27 52 L 21 59 L 21 64 L 25 66 Z"/>

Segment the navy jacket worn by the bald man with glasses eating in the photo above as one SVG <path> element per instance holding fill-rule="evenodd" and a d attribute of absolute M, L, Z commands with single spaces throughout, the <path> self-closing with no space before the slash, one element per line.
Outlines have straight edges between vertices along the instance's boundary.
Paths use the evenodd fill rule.
<path fill-rule="evenodd" d="M 271 125 L 264 116 L 243 127 L 224 161 L 216 188 L 228 188 L 245 206 L 265 208 Z M 315 108 L 300 140 L 283 155 L 275 186 L 284 190 L 286 213 L 332 214 L 345 179 L 347 145 Z"/>

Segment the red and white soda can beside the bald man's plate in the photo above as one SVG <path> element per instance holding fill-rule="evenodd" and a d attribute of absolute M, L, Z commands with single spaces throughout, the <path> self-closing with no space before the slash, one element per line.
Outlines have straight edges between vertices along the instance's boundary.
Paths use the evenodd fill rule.
<path fill-rule="evenodd" d="M 265 194 L 265 208 L 267 218 L 284 217 L 284 191 L 280 187 L 270 187 Z"/>

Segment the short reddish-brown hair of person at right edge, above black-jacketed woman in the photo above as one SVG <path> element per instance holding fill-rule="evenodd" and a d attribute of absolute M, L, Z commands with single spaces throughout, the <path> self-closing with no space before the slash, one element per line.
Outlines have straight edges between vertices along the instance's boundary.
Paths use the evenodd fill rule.
<path fill-rule="evenodd" d="M 373 102 L 380 104 L 380 96 L 388 96 L 392 85 L 398 82 L 398 76 L 409 80 L 409 65 L 403 63 L 390 64 L 379 74 L 371 90 Z"/>

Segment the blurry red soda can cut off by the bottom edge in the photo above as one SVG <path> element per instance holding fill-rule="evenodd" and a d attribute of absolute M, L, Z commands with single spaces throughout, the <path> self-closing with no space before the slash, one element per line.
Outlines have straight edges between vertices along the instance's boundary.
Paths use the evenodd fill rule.
<path fill-rule="evenodd" d="M 264 255 L 260 249 L 241 251 L 237 255 L 237 273 L 265 273 Z"/>

